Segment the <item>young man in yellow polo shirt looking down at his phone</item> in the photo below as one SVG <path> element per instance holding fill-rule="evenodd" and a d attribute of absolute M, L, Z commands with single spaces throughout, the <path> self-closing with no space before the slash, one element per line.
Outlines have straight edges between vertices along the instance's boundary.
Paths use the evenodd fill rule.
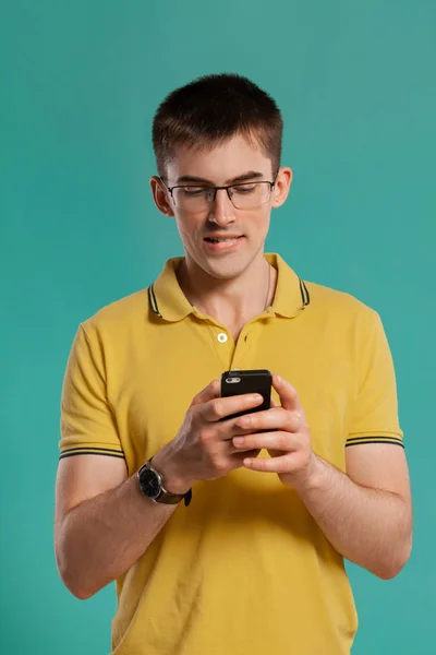
<path fill-rule="evenodd" d="M 185 257 L 74 340 L 56 552 L 78 598 L 117 581 L 118 655 L 348 654 L 343 558 L 390 579 L 410 556 L 378 314 L 264 254 L 292 180 L 281 134 L 276 103 L 244 78 L 170 94 L 150 183 Z M 270 409 L 226 418 L 262 402 L 220 397 L 234 369 L 272 371 Z"/>

